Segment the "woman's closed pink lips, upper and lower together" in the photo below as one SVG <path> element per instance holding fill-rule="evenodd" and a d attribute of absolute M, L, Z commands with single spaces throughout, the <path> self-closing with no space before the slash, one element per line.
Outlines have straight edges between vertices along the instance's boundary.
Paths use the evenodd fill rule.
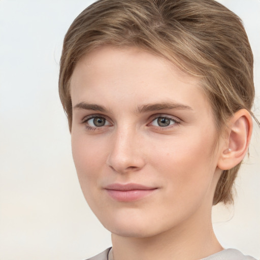
<path fill-rule="evenodd" d="M 113 183 L 105 187 L 108 195 L 112 199 L 119 202 L 132 202 L 141 200 L 149 196 L 156 189 L 157 187 L 149 187 L 136 183 Z"/>

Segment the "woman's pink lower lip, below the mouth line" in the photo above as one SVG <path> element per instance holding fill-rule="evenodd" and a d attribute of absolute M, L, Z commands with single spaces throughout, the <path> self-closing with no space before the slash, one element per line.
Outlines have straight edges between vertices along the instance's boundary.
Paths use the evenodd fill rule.
<path fill-rule="evenodd" d="M 114 190 L 107 189 L 109 196 L 120 202 L 131 202 L 143 199 L 153 193 L 156 189 L 136 189 L 136 190 Z"/>

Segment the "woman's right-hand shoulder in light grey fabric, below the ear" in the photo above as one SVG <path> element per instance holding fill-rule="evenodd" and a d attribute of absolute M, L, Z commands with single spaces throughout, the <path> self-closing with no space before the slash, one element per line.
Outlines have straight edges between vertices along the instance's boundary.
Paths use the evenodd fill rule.
<path fill-rule="evenodd" d="M 237 249 L 224 249 L 201 260 L 256 260 L 254 257 L 244 255 Z"/>

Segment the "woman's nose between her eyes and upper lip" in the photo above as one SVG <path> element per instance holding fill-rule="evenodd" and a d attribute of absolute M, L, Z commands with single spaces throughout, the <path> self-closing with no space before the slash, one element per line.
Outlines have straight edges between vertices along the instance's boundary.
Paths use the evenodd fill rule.
<path fill-rule="evenodd" d="M 130 127 L 118 129 L 111 137 L 112 145 L 107 165 L 120 174 L 142 169 L 145 165 L 145 158 L 140 141 L 141 137 L 135 129 Z"/>

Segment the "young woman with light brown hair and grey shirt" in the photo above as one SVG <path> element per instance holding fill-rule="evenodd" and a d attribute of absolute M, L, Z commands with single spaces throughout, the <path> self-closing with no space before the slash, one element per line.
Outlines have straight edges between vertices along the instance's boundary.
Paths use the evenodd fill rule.
<path fill-rule="evenodd" d="M 211 222 L 248 150 L 252 66 L 240 19 L 212 0 L 101 0 L 75 19 L 60 99 L 113 244 L 91 259 L 253 259 Z"/>

